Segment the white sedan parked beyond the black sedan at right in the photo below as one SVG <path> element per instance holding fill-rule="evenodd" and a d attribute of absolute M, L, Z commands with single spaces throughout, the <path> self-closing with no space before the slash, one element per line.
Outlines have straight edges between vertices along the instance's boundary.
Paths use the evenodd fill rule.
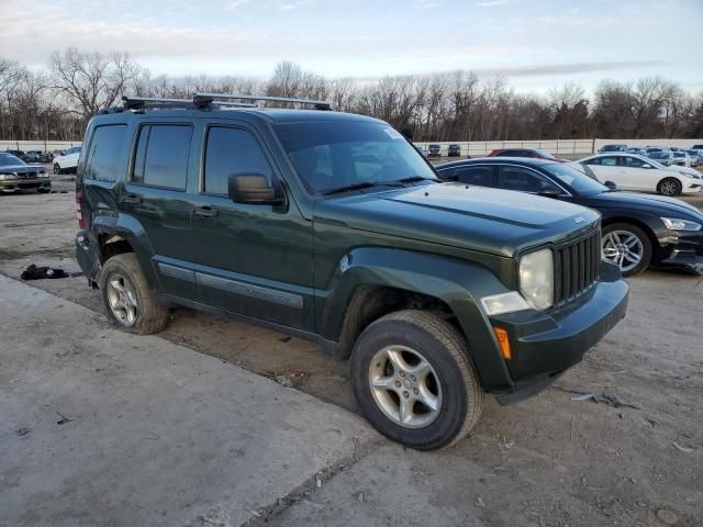
<path fill-rule="evenodd" d="M 612 181 L 620 190 L 658 192 L 663 195 L 691 194 L 703 190 L 703 177 L 687 167 L 665 167 L 636 154 L 596 154 L 579 159 L 601 182 Z"/>

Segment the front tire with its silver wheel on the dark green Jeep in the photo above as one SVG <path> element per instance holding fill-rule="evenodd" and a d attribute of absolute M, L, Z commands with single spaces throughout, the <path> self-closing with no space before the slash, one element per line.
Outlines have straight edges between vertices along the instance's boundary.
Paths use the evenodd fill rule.
<path fill-rule="evenodd" d="M 397 357 L 398 352 L 400 362 L 412 368 L 403 372 L 393 366 L 389 354 Z M 417 358 L 425 362 L 415 362 Z M 423 363 L 424 377 L 420 372 Z M 416 378 L 412 371 L 417 372 Z M 381 384 L 384 388 L 378 388 Z M 417 450 L 453 446 L 473 428 L 483 408 L 483 390 L 462 335 L 443 318 L 422 311 L 391 313 L 361 333 L 352 351 L 352 385 L 377 430 Z M 422 402 L 423 394 L 434 401 L 435 411 Z M 411 417 L 401 423 L 403 397 L 410 402 L 405 416 Z"/>

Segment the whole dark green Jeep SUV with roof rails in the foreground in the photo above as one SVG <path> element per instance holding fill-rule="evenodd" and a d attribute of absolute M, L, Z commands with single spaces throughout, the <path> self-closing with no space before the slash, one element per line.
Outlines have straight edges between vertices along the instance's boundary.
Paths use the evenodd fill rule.
<path fill-rule="evenodd" d="M 443 183 L 382 121 L 221 98 L 243 100 L 127 99 L 88 125 L 76 251 L 124 330 L 187 305 L 312 339 L 350 359 L 373 426 L 435 449 L 484 392 L 536 393 L 624 316 L 596 212 Z"/>

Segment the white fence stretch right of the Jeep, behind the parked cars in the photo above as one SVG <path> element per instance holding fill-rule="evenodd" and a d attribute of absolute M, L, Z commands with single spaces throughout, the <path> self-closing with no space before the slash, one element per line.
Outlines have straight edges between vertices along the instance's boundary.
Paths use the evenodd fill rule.
<path fill-rule="evenodd" d="M 632 146 L 659 145 L 689 148 L 693 144 L 703 144 L 703 139 L 551 139 L 551 141 L 484 141 L 484 142 L 427 142 L 415 143 L 427 154 L 428 145 L 439 145 L 443 156 L 447 155 L 449 145 L 459 145 L 461 156 L 481 157 L 498 148 L 542 148 L 555 156 L 578 158 L 593 154 L 603 145 L 625 144 Z"/>

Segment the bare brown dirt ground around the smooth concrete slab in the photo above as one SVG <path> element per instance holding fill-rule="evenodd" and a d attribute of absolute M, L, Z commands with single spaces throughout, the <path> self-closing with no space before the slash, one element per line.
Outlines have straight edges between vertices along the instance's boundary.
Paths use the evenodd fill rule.
<path fill-rule="evenodd" d="M 0 272 L 79 273 L 72 186 L 0 195 Z M 512 406 L 489 397 L 471 436 L 447 451 L 381 446 L 260 523 L 703 525 L 703 277 L 648 271 L 629 284 L 626 319 L 553 388 Z M 82 276 L 32 285 L 102 311 Z M 358 412 L 348 365 L 311 343 L 187 309 L 163 336 Z"/>

